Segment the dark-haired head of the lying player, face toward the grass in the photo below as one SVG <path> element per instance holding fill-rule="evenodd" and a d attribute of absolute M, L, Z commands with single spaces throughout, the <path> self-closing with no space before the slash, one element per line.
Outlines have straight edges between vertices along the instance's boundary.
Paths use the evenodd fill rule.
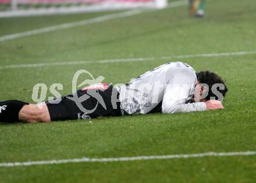
<path fill-rule="evenodd" d="M 195 86 L 195 101 L 207 101 L 215 97 L 221 100 L 225 97 L 227 86 L 223 79 L 211 71 L 201 71 L 197 73 L 197 85 Z M 208 94 L 207 94 L 208 93 Z"/>

